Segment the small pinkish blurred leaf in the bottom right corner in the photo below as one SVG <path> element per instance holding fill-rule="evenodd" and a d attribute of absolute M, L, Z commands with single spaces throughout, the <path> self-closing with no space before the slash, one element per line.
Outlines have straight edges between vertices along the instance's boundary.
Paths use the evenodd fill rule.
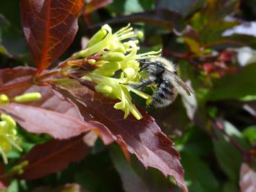
<path fill-rule="evenodd" d="M 239 186 L 241 192 L 256 191 L 256 169 L 243 163 L 240 170 Z"/>

